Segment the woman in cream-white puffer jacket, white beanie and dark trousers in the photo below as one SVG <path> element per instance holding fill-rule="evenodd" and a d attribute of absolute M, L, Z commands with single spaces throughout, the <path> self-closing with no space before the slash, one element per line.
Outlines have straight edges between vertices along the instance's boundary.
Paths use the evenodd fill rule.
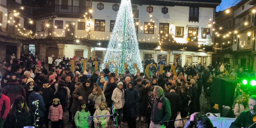
<path fill-rule="evenodd" d="M 123 113 L 123 107 L 125 105 L 125 92 L 123 89 L 123 82 L 117 83 L 117 87 L 114 89 L 111 100 L 114 102 L 114 109 L 117 116 L 118 127 L 121 124 L 121 115 Z"/>

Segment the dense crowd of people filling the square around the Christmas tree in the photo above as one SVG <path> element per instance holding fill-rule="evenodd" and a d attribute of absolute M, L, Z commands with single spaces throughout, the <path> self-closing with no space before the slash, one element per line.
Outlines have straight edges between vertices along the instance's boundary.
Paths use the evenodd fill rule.
<path fill-rule="evenodd" d="M 113 112 L 117 114 L 118 128 L 122 127 L 121 122 L 127 122 L 129 128 L 136 128 L 138 121 L 146 123 L 148 128 L 174 128 L 174 121 L 168 121 L 175 120 L 177 115 L 188 118 L 193 113 L 202 112 L 200 97 L 207 98 L 205 112 L 215 111 L 216 104 L 211 102 L 213 77 L 237 80 L 234 116 L 239 118 L 242 111 L 255 108 L 248 105 L 248 98 L 253 94 L 239 80 L 243 69 L 230 70 L 229 64 L 220 63 L 216 67 L 211 64 L 205 67 L 201 63 L 197 66 L 186 63 L 184 67 L 176 64 L 176 76 L 165 61 L 160 61 L 159 65 L 165 65 L 162 74 L 160 68 L 151 70 L 152 77 L 143 72 L 131 74 L 125 69 L 123 76 L 116 76 L 110 72 L 109 66 L 91 72 L 94 61 L 98 61 L 97 56 L 88 60 L 71 58 L 87 60 L 89 66 L 84 72 L 79 61 L 75 63 L 78 68 L 71 71 L 69 58 L 54 57 L 48 57 L 49 70 L 37 55 L 21 57 L 23 59 L 14 57 L 10 63 L 2 61 L 0 128 L 48 128 L 49 122 L 53 128 L 64 128 L 64 112 L 68 113 L 73 128 L 105 128 L 109 120 L 113 120 L 109 116 Z M 182 123 L 185 126 L 186 120 Z"/>

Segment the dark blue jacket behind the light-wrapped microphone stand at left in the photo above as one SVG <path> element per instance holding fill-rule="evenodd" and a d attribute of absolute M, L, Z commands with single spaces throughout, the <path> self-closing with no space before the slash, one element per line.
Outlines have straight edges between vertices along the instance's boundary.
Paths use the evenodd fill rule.
<path fill-rule="evenodd" d="M 44 104 L 44 99 L 43 97 L 40 95 L 40 93 L 33 91 L 30 96 L 29 96 L 29 103 L 28 106 L 32 109 L 32 111 L 34 112 L 36 110 L 36 106 L 33 103 L 33 101 L 38 100 L 38 116 L 39 117 L 43 117 L 44 116 L 44 111 L 45 111 L 45 104 Z"/>

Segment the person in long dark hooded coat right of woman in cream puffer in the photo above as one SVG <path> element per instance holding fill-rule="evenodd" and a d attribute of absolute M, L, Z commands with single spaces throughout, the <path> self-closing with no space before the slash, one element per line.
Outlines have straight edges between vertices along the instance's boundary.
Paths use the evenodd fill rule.
<path fill-rule="evenodd" d="M 133 82 L 128 83 L 125 90 L 126 118 L 129 128 L 136 128 L 136 103 L 139 101 L 139 92 L 133 88 Z"/>

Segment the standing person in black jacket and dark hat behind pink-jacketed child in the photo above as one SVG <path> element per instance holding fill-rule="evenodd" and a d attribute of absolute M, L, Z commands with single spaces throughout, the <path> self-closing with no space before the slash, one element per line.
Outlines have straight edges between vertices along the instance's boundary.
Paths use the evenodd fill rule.
<path fill-rule="evenodd" d="M 45 103 L 45 115 L 48 115 L 49 113 L 49 108 L 52 105 L 53 98 L 54 98 L 54 91 L 49 85 L 48 79 L 43 79 L 43 87 L 40 88 L 40 92 L 42 93 L 42 97 L 44 99 Z M 44 116 L 44 124 L 46 127 L 49 126 L 49 121 L 48 121 L 48 116 Z"/>

